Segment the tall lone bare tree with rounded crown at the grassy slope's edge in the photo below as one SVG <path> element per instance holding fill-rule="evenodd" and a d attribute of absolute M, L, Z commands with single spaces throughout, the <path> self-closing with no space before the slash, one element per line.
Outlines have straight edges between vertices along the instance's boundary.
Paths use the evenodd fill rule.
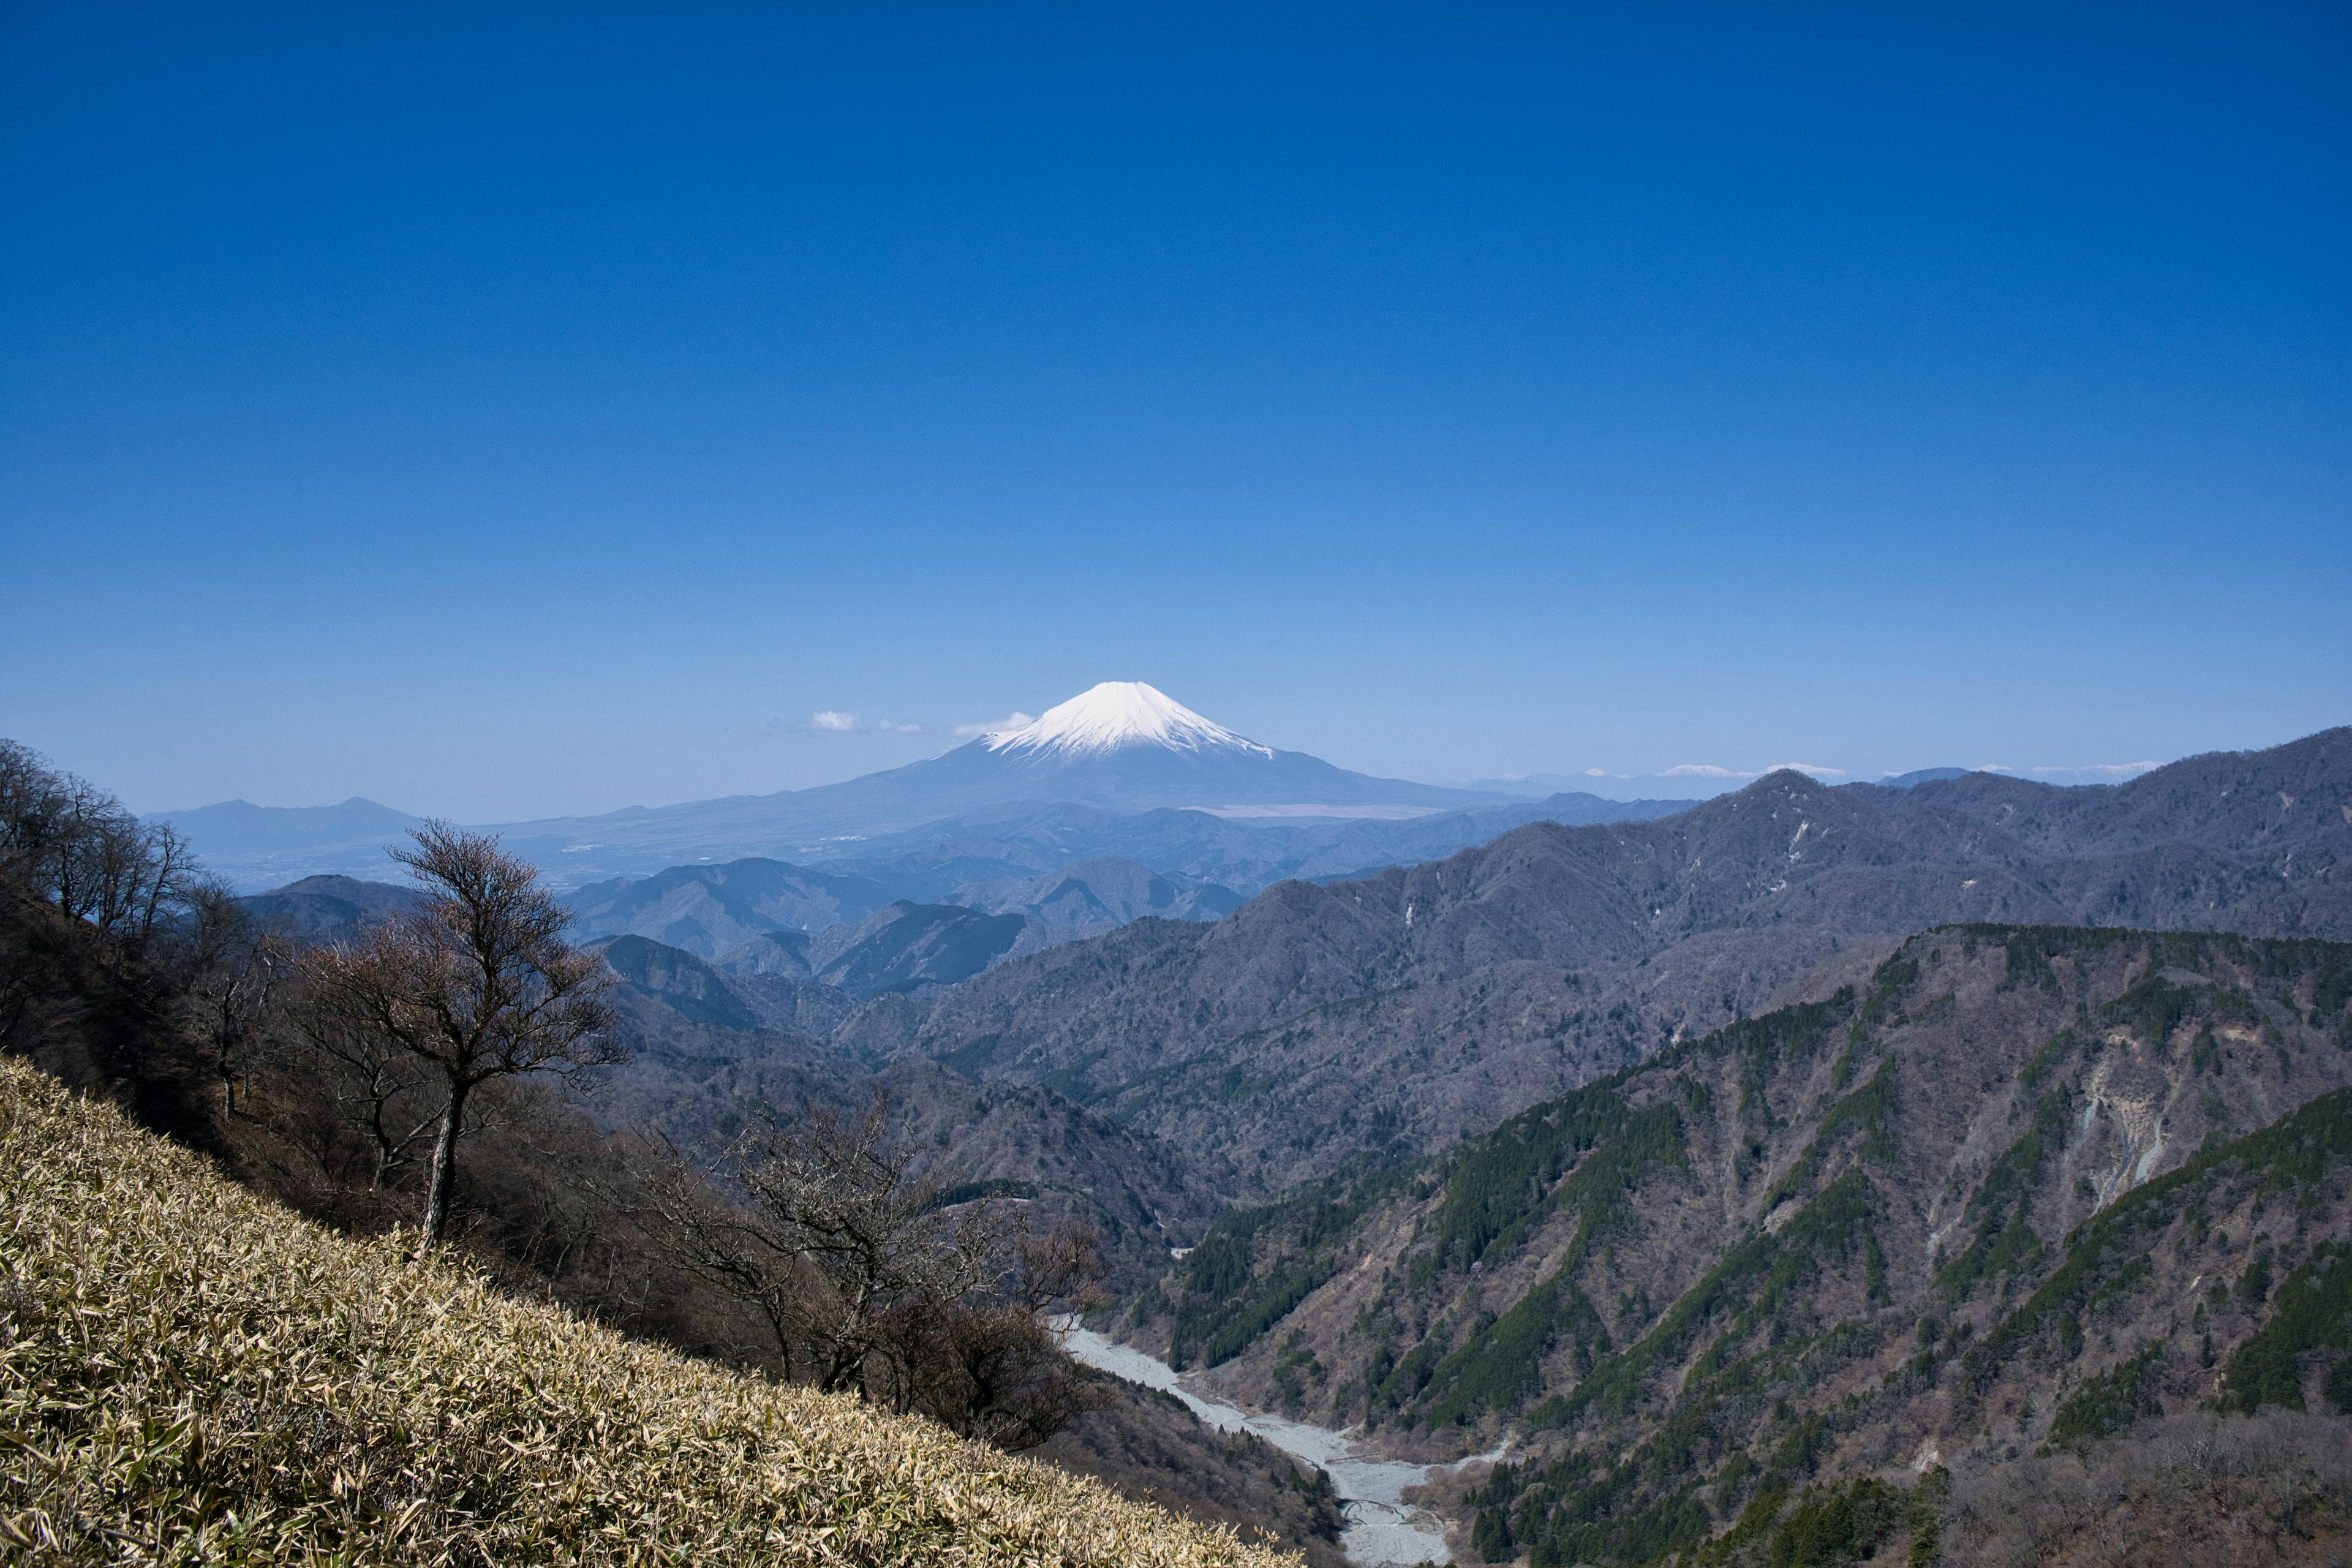
<path fill-rule="evenodd" d="M 569 914 L 539 870 L 494 835 L 428 823 L 393 851 L 433 893 L 353 947 L 315 952 L 306 973 L 343 1027 L 393 1041 L 437 1081 L 440 1117 L 426 1185 L 426 1255 L 449 1227 L 466 1100 L 485 1081 L 579 1072 L 626 1060 L 607 1037 L 612 971 L 562 940 Z"/>

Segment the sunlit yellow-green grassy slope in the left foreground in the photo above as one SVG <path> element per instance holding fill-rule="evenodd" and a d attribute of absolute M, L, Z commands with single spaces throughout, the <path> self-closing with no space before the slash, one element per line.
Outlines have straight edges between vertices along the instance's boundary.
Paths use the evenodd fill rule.
<path fill-rule="evenodd" d="M 0 1540 L 54 1561 L 1277 1563 L 301 1222 L 0 1060 Z"/>

